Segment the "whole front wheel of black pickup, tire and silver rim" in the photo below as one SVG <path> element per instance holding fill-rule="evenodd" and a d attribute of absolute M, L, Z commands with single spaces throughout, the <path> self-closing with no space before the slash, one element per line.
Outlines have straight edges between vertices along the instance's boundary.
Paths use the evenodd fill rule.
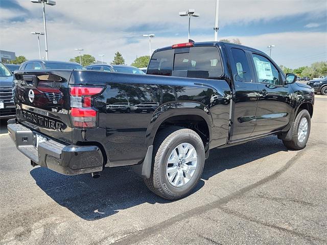
<path fill-rule="evenodd" d="M 291 140 L 283 140 L 284 145 L 290 150 L 301 150 L 306 147 L 311 128 L 311 117 L 307 110 L 301 110 L 290 129 Z"/>

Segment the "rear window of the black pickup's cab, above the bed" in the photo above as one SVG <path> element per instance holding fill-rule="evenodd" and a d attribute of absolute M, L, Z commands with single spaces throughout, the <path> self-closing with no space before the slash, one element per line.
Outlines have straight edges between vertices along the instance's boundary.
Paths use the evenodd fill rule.
<path fill-rule="evenodd" d="M 191 47 L 155 53 L 147 74 L 189 78 L 222 76 L 220 55 L 216 47 Z"/>

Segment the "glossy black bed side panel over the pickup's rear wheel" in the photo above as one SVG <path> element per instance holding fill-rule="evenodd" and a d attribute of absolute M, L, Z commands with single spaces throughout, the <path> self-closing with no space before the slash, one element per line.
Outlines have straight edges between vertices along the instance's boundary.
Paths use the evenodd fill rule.
<path fill-rule="evenodd" d="M 203 117 L 212 132 L 211 148 L 226 143 L 230 89 L 223 80 L 74 71 L 69 83 L 106 87 L 95 100 L 99 128 L 73 130 L 73 141 L 100 142 L 108 156 L 108 166 L 142 161 L 160 124 L 174 115 Z M 151 112 L 107 112 L 106 105 L 117 102 L 157 102 L 158 106 Z"/>

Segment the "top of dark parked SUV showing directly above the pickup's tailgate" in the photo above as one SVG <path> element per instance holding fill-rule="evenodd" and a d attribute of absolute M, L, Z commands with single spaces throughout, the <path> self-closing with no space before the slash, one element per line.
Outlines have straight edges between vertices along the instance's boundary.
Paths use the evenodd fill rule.
<path fill-rule="evenodd" d="M 50 60 L 28 60 L 22 63 L 19 70 L 45 70 L 45 69 L 65 69 L 65 70 L 85 70 L 83 66 L 75 62 L 50 61 Z"/>

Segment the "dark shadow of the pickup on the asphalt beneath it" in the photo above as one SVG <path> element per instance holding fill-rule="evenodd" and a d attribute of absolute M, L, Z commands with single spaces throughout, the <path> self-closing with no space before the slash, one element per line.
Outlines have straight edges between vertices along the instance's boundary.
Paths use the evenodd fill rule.
<path fill-rule="evenodd" d="M 281 151 L 287 150 L 282 141 L 273 136 L 230 148 L 213 149 L 205 162 L 202 179 L 208 180 L 225 169 Z M 86 220 L 108 217 L 143 203 L 172 202 L 150 192 L 130 167 L 105 168 L 99 179 L 92 179 L 90 174 L 64 176 L 43 167 L 32 169 L 30 174 L 55 202 Z M 193 193 L 203 185 L 204 181 L 200 180 Z"/>

